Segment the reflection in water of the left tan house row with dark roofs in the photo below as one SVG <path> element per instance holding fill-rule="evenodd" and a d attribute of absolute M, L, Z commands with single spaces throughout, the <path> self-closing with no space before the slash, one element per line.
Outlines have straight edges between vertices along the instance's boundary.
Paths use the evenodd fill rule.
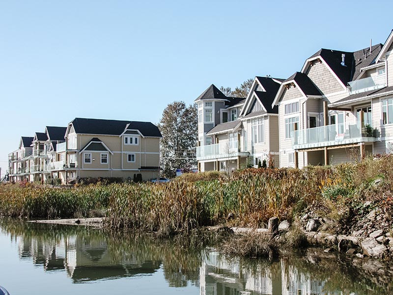
<path fill-rule="evenodd" d="M 19 242 L 22 259 L 32 258 L 35 265 L 46 271 L 66 270 L 74 282 L 112 279 L 137 274 L 154 273 L 161 261 L 139 261 L 137 258 L 114 259 L 102 239 L 66 236 L 56 242 L 24 237 Z"/>

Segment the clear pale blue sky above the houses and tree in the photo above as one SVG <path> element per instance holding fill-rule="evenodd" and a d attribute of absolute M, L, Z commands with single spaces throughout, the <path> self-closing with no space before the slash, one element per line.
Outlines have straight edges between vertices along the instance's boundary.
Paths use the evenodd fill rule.
<path fill-rule="evenodd" d="M 0 2 L 0 166 L 75 117 L 152 121 L 210 84 L 287 78 L 320 48 L 384 43 L 393 1 Z"/>

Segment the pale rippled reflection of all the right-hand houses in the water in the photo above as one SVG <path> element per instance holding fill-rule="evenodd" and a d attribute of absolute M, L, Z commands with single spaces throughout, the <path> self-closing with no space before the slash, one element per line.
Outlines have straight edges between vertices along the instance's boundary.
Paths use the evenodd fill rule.
<path fill-rule="evenodd" d="M 256 261 L 257 262 L 257 261 Z M 325 282 L 312 279 L 285 261 L 259 264 L 251 270 L 238 259 L 227 260 L 217 252 L 206 255 L 200 267 L 201 295 L 338 295 L 326 293 Z"/>

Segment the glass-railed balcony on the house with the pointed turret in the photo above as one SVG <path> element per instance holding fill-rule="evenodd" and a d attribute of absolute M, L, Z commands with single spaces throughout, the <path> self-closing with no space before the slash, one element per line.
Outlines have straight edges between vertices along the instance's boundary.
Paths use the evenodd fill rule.
<path fill-rule="evenodd" d="M 236 156 L 248 156 L 248 151 L 241 151 L 237 141 L 197 147 L 197 160 L 228 159 Z"/>

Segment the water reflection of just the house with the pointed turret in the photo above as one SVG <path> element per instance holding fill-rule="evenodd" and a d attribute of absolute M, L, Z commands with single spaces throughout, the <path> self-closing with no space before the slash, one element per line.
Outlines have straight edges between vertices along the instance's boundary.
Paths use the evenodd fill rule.
<path fill-rule="evenodd" d="M 281 294 L 281 277 L 272 274 L 269 268 L 252 271 L 241 267 L 239 260 L 229 261 L 211 252 L 200 267 L 200 294 Z"/>

